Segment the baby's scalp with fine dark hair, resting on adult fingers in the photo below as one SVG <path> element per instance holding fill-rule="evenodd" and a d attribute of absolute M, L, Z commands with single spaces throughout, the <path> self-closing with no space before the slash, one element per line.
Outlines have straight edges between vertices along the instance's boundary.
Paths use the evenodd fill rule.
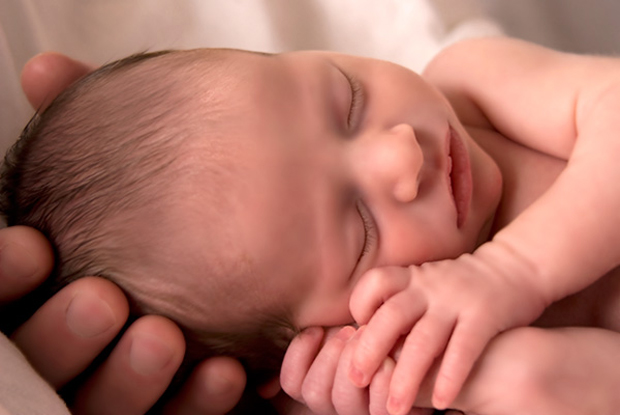
<path fill-rule="evenodd" d="M 234 217 L 252 206 L 229 189 L 243 169 L 231 126 L 248 108 L 227 99 L 243 78 L 228 53 L 137 55 L 80 80 L 7 154 L 2 210 L 52 242 L 52 291 L 108 278 L 136 315 L 177 321 L 192 358 L 275 369 L 293 332 L 283 309 L 248 301 Z"/>

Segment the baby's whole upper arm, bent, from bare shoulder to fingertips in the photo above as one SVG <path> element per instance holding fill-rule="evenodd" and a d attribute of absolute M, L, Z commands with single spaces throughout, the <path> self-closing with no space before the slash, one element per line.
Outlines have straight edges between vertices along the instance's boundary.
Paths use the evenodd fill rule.
<path fill-rule="evenodd" d="M 413 401 L 444 348 L 438 407 L 449 405 L 494 335 L 531 323 L 620 263 L 619 60 L 479 39 L 443 52 L 425 77 L 465 125 L 497 130 L 568 164 L 539 200 L 473 255 L 411 267 L 406 283 L 393 289 L 356 287 L 361 294 L 354 293 L 351 311 L 368 323 L 351 370 L 358 386 L 368 384 L 390 342 L 409 333 L 391 382 L 393 413 Z"/>

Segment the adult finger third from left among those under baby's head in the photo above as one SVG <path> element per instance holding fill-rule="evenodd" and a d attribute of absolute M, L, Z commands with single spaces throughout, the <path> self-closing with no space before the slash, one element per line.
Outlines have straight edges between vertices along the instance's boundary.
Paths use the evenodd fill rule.
<path fill-rule="evenodd" d="M 166 390 L 185 353 L 183 333 L 161 316 L 135 321 L 75 395 L 74 414 L 141 415 Z"/>

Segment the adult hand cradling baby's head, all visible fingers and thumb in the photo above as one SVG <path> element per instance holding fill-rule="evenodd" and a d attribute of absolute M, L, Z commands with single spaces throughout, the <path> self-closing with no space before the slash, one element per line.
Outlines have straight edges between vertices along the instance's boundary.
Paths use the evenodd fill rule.
<path fill-rule="evenodd" d="M 30 103 L 44 109 L 92 67 L 57 53 L 32 58 L 22 72 Z M 34 229 L 0 229 L 0 302 L 38 286 L 53 266 L 46 239 Z M 109 281 L 80 279 L 48 300 L 12 334 L 33 367 L 60 388 L 80 375 L 118 335 L 128 316 L 127 299 Z M 178 369 L 185 342 L 179 328 L 145 316 L 120 337 L 108 357 L 76 391 L 72 411 L 143 414 L 161 397 Z M 220 357 L 202 362 L 162 409 L 174 414 L 223 414 L 239 401 L 246 375 L 241 364 Z"/>

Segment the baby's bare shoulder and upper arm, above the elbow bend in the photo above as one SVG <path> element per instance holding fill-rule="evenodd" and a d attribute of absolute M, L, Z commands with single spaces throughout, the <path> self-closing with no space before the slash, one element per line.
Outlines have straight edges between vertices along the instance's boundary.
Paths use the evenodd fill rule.
<path fill-rule="evenodd" d="M 556 51 L 510 38 L 462 41 L 440 52 L 423 77 L 464 125 L 568 159 L 577 131 L 601 97 L 620 110 L 620 59 Z M 610 88 L 614 86 L 614 88 Z M 549 111 L 553 108 L 553 111 Z"/>

